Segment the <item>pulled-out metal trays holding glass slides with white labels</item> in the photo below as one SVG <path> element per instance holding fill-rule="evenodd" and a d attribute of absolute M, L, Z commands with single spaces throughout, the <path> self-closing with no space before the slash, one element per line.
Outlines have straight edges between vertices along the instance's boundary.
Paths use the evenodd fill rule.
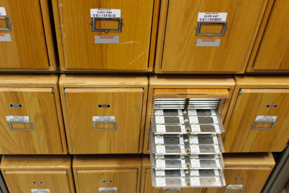
<path fill-rule="evenodd" d="M 182 108 L 182 107 L 180 107 Z M 216 109 L 154 109 L 152 186 L 222 187 L 224 127 Z"/>

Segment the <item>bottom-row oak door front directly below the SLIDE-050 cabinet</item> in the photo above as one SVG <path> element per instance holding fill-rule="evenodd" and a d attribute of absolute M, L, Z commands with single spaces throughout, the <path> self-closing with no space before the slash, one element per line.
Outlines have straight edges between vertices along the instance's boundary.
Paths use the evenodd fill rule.
<path fill-rule="evenodd" d="M 137 169 L 77 170 L 78 193 L 137 192 Z"/>

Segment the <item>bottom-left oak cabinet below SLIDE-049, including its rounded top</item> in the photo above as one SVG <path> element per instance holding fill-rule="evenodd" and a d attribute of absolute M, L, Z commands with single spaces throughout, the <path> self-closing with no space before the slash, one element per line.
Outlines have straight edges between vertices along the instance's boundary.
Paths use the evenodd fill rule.
<path fill-rule="evenodd" d="M 4 155 L 0 168 L 10 192 L 75 192 L 70 155 Z"/>

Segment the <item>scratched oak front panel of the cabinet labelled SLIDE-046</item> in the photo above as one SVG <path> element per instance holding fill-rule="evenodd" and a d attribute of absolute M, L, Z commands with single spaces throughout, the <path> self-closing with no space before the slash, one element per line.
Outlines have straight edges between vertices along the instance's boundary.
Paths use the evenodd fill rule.
<path fill-rule="evenodd" d="M 148 55 L 153 6 L 153 0 L 58 0 L 65 61 L 61 70 L 152 71 Z M 122 32 L 92 32 L 90 9 L 95 8 L 121 9 Z M 119 36 L 119 43 L 95 44 L 94 36 L 102 35 Z"/>

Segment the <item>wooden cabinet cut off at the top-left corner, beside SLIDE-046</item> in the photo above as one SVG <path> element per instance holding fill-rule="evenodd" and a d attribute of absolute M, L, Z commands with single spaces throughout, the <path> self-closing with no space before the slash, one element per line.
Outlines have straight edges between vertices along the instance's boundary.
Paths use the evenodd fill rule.
<path fill-rule="evenodd" d="M 48 0 L 0 2 L 6 12 L 0 15 L 0 70 L 57 69 L 50 4 Z"/>

